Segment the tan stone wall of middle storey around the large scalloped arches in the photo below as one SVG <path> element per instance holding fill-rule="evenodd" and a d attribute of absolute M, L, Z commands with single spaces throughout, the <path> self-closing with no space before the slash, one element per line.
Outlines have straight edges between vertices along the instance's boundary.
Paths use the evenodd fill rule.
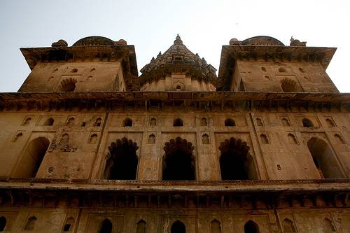
<path fill-rule="evenodd" d="M 54 120 L 52 126 L 45 125 L 49 118 Z M 73 122 L 69 122 L 72 118 Z M 131 127 L 123 126 L 126 118 L 132 120 Z M 182 127 L 173 126 L 176 118 L 183 120 Z M 202 125 L 202 118 L 207 126 Z M 235 120 L 236 125 L 225 126 L 228 118 Z M 304 118 L 314 126 L 303 127 Z M 151 119 L 155 125 L 151 125 Z M 26 150 L 30 153 L 29 143 L 38 137 L 48 139 L 50 146 L 37 178 L 102 178 L 109 146 L 124 137 L 139 147 L 139 180 L 162 179 L 163 148 L 176 137 L 193 144 L 195 177 L 199 181 L 221 179 L 219 147 L 231 137 L 250 147 L 251 172 L 256 179 L 321 178 L 307 145 L 312 138 L 322 139 L 328 145 L 328 163 L 337 171 L 328 178 L 350 176 L 348 113 L 3 112 L 0 127 L 3 178 L 20 177 L 16 171 L 23 163 L 22 157 Z M 149 141 L 151 134 L 155 136 L 154 142 Z M 205 143 L 204 134 L 209 138 Z"/>

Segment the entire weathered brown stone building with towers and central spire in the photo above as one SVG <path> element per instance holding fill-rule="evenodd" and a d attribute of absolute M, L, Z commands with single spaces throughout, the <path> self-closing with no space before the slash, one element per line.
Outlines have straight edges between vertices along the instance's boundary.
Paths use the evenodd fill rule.
<path fill-rule="evenodd" d="M 336 48 L 232 38 L 217 71 L 184 43 L 141 73 L 123 39 L 20 49 L 31 73 L 0 93 L 0 232 L 350 232 Z"/>

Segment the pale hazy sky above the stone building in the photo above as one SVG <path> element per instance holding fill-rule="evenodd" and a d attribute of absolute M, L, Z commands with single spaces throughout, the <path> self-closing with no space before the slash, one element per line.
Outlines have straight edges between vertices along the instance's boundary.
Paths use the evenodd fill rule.
<path fill-rule="evenodd" d="M 85 36 L 135 45 L 138 69 L 172 45 L 176 34 L 216 69 L 231 38 L 290 36 L 308 46 L 337 47 L 327 73 L 350 92 L 350 1 L 0 1 L 0 92 L 16 92 L 30 69 L 20 48 L 69 46 Z M 139 73 L 140 75 L 141 73 Z"/>

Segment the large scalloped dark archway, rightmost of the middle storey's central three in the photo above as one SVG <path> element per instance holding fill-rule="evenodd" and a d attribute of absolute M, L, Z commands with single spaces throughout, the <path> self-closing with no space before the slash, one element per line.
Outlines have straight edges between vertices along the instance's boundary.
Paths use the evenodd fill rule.
<path fill-rule="evenodd" d="M 222 180 L 248 180 L 255 178 L 253 157 L 249 155 L 249 146 L 241 139 L 230 138 L 219 147 L 220 171 Z"/>

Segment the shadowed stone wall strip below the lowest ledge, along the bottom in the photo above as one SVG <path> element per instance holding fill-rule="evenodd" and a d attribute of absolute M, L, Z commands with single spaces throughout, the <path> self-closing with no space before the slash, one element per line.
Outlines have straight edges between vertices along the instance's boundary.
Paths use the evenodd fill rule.
<path fill-rule="evenodd" d="M 349 232 L 349 209 L 52 209 L 1 208 L 7 224 L 4 232 L 28 232 L 28 218 L 36 217 L 32 232 L 64 232 L 68 218 L 73 218 L 69 232 L 98 232 L 104 219 L 109 219 L 113 232 L 137 232 L 137 223 L 146 222 L 146 232 L 170 232 L 172 223 L 180 220 L 188 233 L 215 232 L 211 223 L 216 220 L 221 232 L 244 232 L 244 225 L 253 220 L 260 233 L 267 232 Z"/>

